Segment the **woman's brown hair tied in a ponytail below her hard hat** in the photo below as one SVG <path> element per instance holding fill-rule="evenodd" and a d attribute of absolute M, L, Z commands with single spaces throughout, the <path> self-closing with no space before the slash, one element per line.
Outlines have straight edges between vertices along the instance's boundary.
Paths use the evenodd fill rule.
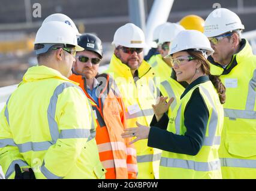
<path fill-rule="evenodd" d="M 202 72 L 207 76 L 209 76 L 210 81 L 212 82 L 215 89 L 217 90 L 217 93 L 219 94 L 219 101 L 221 101 L 221 104 L 224 104 L 226 100 L 226 95 L 225 95 L 226 88 L 222 84 L 221 79 L 219 79 L 219 76 L 210 74 L 210 64 L 200 51 L 189 50 L 188 53 L 190 56 L 195 57 L 195 59 L 199 61 L 199 63 L 201 63 Z"/>

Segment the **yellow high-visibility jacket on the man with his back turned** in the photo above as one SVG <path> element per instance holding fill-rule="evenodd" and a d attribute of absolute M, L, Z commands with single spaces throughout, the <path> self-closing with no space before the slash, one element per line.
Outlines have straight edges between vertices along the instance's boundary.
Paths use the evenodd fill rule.
<path fill-rule="evenodd" d="M 57 70 L 34 66 L 23 76 L 0 114 L 0 165 L 36 178 L 104 178 L 88 99 Z"/>

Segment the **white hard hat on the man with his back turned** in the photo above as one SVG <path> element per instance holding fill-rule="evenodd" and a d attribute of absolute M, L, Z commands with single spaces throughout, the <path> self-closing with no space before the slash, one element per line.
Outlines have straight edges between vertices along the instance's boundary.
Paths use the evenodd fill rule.
<path fill-rule="evenodd" d="M 76 46 L 76 51 L 85 50 L 77 45 L 77 36 L 74 30 L 59 21 L 49 21 L 43 24 L 37 31 L 34 44 L 69 44 Z M 37 54 L 45 53 L 47 51 L 46 48 L 50 47 L 47 46 L 42 48 L 44 50 L 37 50 Z"/>

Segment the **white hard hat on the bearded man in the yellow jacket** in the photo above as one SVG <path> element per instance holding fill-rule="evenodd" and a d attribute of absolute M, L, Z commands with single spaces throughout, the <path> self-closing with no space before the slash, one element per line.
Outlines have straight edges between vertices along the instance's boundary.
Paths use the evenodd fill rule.
<path fill-rule="evenodd" d="M 132 23 L 127 23 L 116 30 L 112 44 L 129 48 L 147 47 L 143 31 Z"/>

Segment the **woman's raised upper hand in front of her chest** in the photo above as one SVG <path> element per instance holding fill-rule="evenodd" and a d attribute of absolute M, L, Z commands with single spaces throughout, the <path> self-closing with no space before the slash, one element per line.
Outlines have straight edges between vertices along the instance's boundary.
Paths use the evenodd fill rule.
<path fill-rule="evenodd" d="M 169 109 L 171 103 L 173 103 L 174 97 L 171 97 L 168 103 L 166 103 L 168 97 L 158 97 L 156 100 L 156 104 L 152 104 L 153 112 L 155 113 L 156 120 L 159 121 L 159 119 L 162 118 L 165 112 Z"/>

